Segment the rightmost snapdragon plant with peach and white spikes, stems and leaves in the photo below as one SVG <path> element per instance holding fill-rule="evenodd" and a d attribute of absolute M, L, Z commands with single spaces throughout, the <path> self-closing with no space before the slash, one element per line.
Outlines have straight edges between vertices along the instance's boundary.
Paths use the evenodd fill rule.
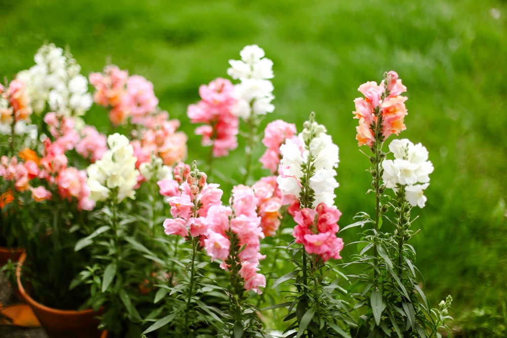
<path fill-rule="evenodd" d="M 353 285 L 366 287 L 366 291 L 352 294 L 352 298 L 360 305 L 369 306 L 367 313 L 360 316 L 357 329 L 352 329 L 351 333 L 355 337 L 434 336 L 437 324 L 428 319 L 432 318 L 433 310 L 428 308 L 416 280 L 415 250 L 407 244 L 414 234 L 410 229 L 413 221 L 410 211 L 414 206 L 424 206 L 423 190 L 429 184 L 428 174 L 433 167 L 427 161 L 426 149 L 407 139 L 393 140 L 389 144 L 394 160 L 387 160 L 388 154 L 382 151 L 391 134 L 397 135 L 406 129 L 404 102 L 407 98 L 400 95 L 406 87 L 397 74 L 387 72 L 380 85 L 367 82 L 358 90 L 365 98 L 354 100 L 354 118 L 359 120 L 356 139 L 359 146 L 368 145 L 372 152 L 369 170 L 372 189 L 369 192 L 375 194 L 375 216 L 372 219 L 366 213 L 358 214 L 356 217 L 361 220 L 346 227 L 373 224 L 373 229 L 367 230 L 364 239 L 358 242 L 364 249 L 346 264 L 366 265 L 360 268 L 363 272 L 350 279 Z M 386 195 L 386 189 L 393 189 L 393 200 Z M 385 215 L 390 208 L 394 211 L 394 220 Z M 384 219 L 394 224 L 393 234 L 380 231 Z M 373 255 L 369 250 L 373 250 Z"/>

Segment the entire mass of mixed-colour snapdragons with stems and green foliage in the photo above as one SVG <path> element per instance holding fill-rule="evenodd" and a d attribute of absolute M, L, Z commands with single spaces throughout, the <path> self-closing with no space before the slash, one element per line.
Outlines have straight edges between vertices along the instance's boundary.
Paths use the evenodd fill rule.
<path fill-rule="evenodd" d="M 273 62 L 256 45 L 240 58 L 227 70 L 236 83 L 202 85 L 188 107 L 190 122 L 201 124 L 195 134 L 211 147 L 209 159 L 190 165 L 187 136 L 148 80 L 108 65 L 90 74 L 92 96 L 68 52 L 43 47 L 37 65 L 0 91 L 10 126 L 0 176 L 13 196 L 2 212 L 17 217 L 38 203 L 27 251 L 50 242 L 80 256 L 65 283 L 114 336 L 439 336 L 452 299 L 430 308 L 408 244 L 411 210 L 424 207 L 433 166 L 408 139 L 383 151 L 406 129 L 397 73 L 361 85 L 365 97 L 354 100 L 356 139 L 372 152 L 375 214 L 359 212 L 340 230 L 339 147 L 313 112 L 299 133 L 282 120 L 262 130 L 275 108 Z M 92 100 L 110 118 L 107 136 L 83 121 Z M 28 107 L 44 113 L 35 129 L 46 137 L 34 139 L 33 157 L 14 146 Z M 244 166 L 213 171 L 238 135 Z M 256 161 L 259 141 L 265 152 Z M 15 202 L 18 192 L 31 196 Z M 358 253 L 339 264 L 347 244 L 339 233 L 358 227 Z"/>

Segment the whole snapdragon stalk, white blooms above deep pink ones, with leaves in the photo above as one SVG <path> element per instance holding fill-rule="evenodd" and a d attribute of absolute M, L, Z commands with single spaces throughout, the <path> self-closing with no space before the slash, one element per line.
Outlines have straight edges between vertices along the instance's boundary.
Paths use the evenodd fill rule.
<path fill-rule="evenodd" d="M 336 237 L 341 213 L 334 206 L 338 146 L 324 126 L 315 122 L 312 112 L 298 140 L 286 139 L 280 153 L 279 189 L 283 195 L 294 196 L 298 203 L 293 214 L 297 223 L 295 240 L 291 244 L 297 269 L 274 284 L 294 278 L 298 290 L 299 296 L 289 307 L 296 310 L 296 321 L 288 329 L 297 329 L 298 337 L 346 336 L 338 324 L 343 319 L 340 306 L 322 297 L 328 284 L 322 269 L 329 259 L 340 259 L 343 248 L 342 239 Z M 287 315 L 287 319 L 291 317 Z"/>

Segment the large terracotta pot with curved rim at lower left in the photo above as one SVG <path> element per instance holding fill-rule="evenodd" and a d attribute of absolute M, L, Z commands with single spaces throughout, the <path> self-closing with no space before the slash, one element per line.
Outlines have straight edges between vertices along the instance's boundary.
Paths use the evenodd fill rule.
<path fill-rule="evenodd" d="M 21 284 L 21 266 L 26 258 L 23 253 L 18 261 L 16 269 L 16 278 L 18 290 L 23 301 L 25 301 L 39 321 L 50 338 L 100 338 L 101 331 L 97 329 L 100 321 L 95 317 L 100 315 L 93 309 L 83 311 L 59 310 L 44 306 L 25 291 Z"/>

